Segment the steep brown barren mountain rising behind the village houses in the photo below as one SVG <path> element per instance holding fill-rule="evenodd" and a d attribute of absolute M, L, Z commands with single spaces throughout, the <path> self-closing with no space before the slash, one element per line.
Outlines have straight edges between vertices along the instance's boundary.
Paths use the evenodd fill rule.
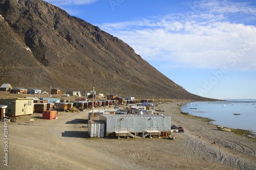
<path fill-rule="evenodd" d="M 47 2 L 2 0 L 0 14 L 0 83 L 205 99 L 168 79 L 119 38 Z"/>

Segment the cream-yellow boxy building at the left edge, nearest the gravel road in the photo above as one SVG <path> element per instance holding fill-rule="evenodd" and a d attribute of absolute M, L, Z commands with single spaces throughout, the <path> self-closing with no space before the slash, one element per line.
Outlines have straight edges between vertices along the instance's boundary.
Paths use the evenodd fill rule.
<path fill-rule="evenodd" d="M 8 106 L 6 113 L 14 116 L 33 114 L 33 98 L 0 99 L 0 104 Z"/>

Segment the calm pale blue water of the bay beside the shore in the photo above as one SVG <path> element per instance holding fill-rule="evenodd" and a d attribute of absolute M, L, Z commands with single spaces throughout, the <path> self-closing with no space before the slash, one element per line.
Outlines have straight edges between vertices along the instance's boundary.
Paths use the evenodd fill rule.
<path fill-rule="evenodd" d="M 191 115 L 214 119 L 212 124 L 256 134 L 256 101 L 193 102 L 180 107 Z M 233 115 L 233 114 L 240 115 Z"/>

